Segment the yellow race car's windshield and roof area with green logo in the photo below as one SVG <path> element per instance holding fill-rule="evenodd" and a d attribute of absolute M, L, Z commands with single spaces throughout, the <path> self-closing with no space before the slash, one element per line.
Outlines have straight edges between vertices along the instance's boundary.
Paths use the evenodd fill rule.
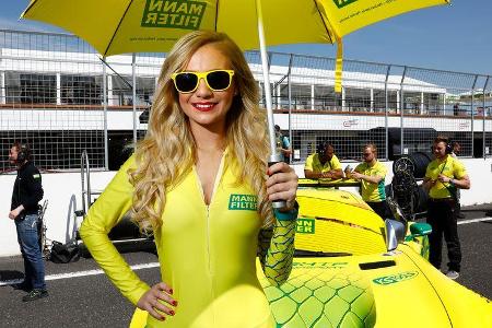
<path fill-rule="evenodd" d="M 386 251 L 384 221 L 358 195 L 306 188 L 297 190 L 297 254 L 349 256 Z"/>

